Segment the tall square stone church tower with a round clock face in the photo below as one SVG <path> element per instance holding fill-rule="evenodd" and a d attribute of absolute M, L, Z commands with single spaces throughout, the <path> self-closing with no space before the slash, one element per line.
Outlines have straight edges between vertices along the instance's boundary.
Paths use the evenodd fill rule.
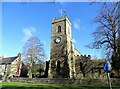
<path fill-rule="evenodd" d="M 50 46 L 50 78 L 69 78 L 74 72 L 73 44 L 71 35 L 71 22 L 67 16 L 52 20 L 52 36 Z"/>

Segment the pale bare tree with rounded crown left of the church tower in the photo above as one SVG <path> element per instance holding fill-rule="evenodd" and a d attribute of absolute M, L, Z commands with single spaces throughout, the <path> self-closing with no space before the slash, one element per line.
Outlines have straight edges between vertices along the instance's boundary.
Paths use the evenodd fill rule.
<path fill-rule="evenodd" d="M 28 66 L 28 76 L 32 78 L 33 65 L 44 59 L 43 44 L 39 38 L 31 37 L 27 40 L 23 48 L 24 62 Z"/>

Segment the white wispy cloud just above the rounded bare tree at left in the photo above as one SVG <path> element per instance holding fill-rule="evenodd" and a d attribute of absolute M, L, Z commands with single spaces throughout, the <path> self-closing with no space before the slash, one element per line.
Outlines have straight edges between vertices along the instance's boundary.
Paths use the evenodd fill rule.
<path fill-rule="evenodd" d="M 22 32 L 24 34 L 22 41 L 27 41 L 36 32 L 36 28 L 35 27 L 26 27 L 26 28 L 23 28 Z"/>

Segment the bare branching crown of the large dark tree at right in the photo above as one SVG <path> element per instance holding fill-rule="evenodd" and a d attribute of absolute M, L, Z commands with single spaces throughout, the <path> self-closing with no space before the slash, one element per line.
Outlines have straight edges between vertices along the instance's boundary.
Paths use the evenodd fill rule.
<path fill-rule="evenodd" d="M 111 9 L 112 8 L 112 9 Z M 113 10 L 114 9 L 114 10 Z M 94 37 L 94 42 L 90 48 L 105 48 L 108 52 L 117 52 L 117 39 L 118 39 L 118 18 L 120 17 L 117 13 L 117 6 L 106 5 L 104 9 L 100 11 L 99 16 L 94 19 L 95 23 L 99 26 L 92 36 Z"/>

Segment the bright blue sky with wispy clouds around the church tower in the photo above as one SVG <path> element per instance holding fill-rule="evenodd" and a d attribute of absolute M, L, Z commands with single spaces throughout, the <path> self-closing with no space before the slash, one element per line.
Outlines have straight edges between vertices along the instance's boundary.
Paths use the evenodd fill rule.
<path fill-rule="evenodd" d="M 93 41 L 91 34 L 98 25 L 92 20 L 98 15 L 100 7 L 89 2 L 3 2 L 0 55 L 11 57 L 22 53 L 26 40 L 37 36 L 44 44 L 49 60 L 52 19 L 61 17 L 60 10 L 65 10 L 72 23 L 75 48 L 83 55 L 102 58 L 101 50 L 85 47 Z"/>

